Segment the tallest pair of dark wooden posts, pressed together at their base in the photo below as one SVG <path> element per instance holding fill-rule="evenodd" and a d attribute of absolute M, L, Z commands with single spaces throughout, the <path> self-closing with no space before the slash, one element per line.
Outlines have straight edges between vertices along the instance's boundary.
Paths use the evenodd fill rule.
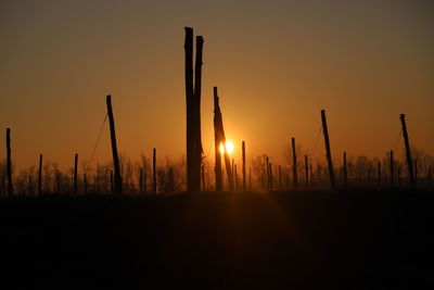
<path fill-rule="evenodd" d="M 203 38 L 196 37 L 195 77 L 193 87 L 193 29 L 186 27 L 186 101 L 187 101 L 187 188 L 201 191 L 201 87 Z"/>

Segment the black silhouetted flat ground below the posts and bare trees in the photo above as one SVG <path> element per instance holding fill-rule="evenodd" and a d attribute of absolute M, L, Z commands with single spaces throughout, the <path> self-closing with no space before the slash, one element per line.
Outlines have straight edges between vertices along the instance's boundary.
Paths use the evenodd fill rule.
<path fill-rule="evenodd" d="M 0 289 L 434 286 L 434 192 L 0 201 Z"/>

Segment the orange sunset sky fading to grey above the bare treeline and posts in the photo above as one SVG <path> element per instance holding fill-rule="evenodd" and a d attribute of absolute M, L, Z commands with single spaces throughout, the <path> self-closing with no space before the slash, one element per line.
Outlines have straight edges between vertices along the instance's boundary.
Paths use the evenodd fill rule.
<path fill-rule="evenodd" d="M 112 94 L 118 149 L 178 160 L 186 148 L 183 27 L 204 37 L 202 136 L 213 154 L 213 86 L 228 139 L 283 162 L 311 151 L 326 109 L 333 155 L 382 156 L 399 114 L 434 154 L 434 2 L 1 1 L 0 156 L 89 159 Z M 110 160 L 106 126 L 97 157 Z M 399 140 L 399 146 L 401 140 Z M 208 154 L 209 153 L 209 154 Z M 317 155 L 323 155 L 320 139 Z"/>

